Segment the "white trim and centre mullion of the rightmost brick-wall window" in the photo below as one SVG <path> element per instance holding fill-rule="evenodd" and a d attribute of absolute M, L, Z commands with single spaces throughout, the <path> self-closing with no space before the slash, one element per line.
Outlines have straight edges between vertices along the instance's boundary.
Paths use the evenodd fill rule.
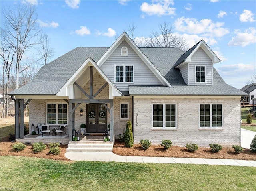
<path fill-rule="evenodd" d="M 201 127 L 200 126 L 200 105 L 210 105 L 210 127 Z M 221 106 L 221 113 L 222 113 L 222 115 L 221 115 L 221 124 L 222 124 L 222 126 L 221 127 L 213 127 L 212 126 L 212 105 L 222 105 Z M 199 129 L 200 130 L 209 130 L 209 129 L 211 129 L 211 130 L 222 130 L 222 129 L 224 129 L 224 105 L 223 105 L 223 103 L 200 103 L 199 104 L 199 124 L 198 124 L 198 126 L 199 126 Z"/>

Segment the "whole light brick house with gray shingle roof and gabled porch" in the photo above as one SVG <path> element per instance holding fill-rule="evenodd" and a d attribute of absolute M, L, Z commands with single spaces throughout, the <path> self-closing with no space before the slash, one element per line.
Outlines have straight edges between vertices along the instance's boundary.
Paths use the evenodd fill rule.
<path fill-rule="evenodd" d="M 67 124 L 69 140 L 83 123 L 87 133 L 104 132 L 110 124 L 113 140 L 130 119 L 135 143 L 239 145 L 244 92 L 223 81 L 213 67 L 218 62 L 203 40 L 186 52 L 139 48 L 124 32 L 111 47 L 73 49 L 10 95 L 16 107 L 29 103 L 30 126 Z M 22 110 L 20 116 L 16 138 L 22 139 Z"/>

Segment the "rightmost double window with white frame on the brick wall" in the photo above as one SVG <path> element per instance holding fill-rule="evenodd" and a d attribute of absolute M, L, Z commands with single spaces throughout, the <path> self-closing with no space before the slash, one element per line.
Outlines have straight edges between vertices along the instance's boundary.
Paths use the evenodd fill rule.
<path fill-rule="evenodd" d="M 222 128 L 222 104 L 200 104 L 200 128 Z"/>

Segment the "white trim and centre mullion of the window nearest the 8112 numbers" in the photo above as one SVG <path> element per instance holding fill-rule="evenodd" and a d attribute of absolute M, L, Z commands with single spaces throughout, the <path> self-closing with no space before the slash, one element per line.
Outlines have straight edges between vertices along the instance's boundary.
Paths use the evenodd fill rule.
<path fill-rule="evenodd" d="M 163 105 L 163 127 L 153 127 L 153 105 Z M 166 127 L 165 126 L 165 105 L 175 105 L 175 127 Z M 151 104 L 151 129 L 152 130 L 174 130 L 177 129 L 177 119 L 178 119 L 178 113 L 177 113 L 177 104 L 176 103 L 152 103 Z"/>

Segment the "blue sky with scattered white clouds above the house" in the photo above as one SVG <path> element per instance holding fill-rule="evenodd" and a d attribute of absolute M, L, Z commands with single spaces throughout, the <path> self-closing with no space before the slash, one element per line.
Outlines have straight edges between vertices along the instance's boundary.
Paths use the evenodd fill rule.
<path fill-rule="evenodd" d="M 158 24 L 172 24 L 188 48 L 204 39 L 222 60 L 214 65 L 226 83 L 240 89 L 256 74 L 256 1 L 238 0 L 20 0 L 37 7 L 38 24 L 56 59 L 75 47 L 109 47 L 134 23 L 137 40 Z M 1 22 L 2 23 L 2 22 Z"/>

